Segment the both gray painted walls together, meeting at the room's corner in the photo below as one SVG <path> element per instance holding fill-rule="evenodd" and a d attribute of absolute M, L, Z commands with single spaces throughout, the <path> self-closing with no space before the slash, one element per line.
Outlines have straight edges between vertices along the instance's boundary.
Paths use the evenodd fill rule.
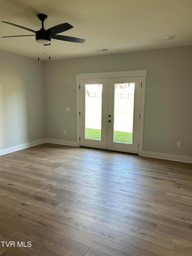
<path fill-rule="evenodd" d="M 192 46 L 47 62 L 0 51 L 0 150 L 75 142 L 76 74 L 147 69 L 143 150 L 192 156 L 191 60 Z"/>

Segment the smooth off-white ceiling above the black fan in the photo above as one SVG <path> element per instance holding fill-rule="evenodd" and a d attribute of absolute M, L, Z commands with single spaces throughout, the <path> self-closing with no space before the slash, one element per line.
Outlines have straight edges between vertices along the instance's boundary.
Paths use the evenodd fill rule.
<path fill-rule="evenodd" d="M 45 29 L 69 23 L 61 33 L 85 39 L 72 43 L 52 39 L 51 59 L 66 59 L 192 45 L 192 0 L 0 0 L 1 21 L 41 29 L 39 13 L 48 15 Z M 32 35 L 0 23 L 0 36 Z M 169 35 L 176 36 L 166 40 Z M 109 51 L 95 52 L 98 49 Z M 0 49 L 38 58 L 35 37 L 0 38 Z M 49 60 L 49 46 L 39 44 L 39 58 Z"/>

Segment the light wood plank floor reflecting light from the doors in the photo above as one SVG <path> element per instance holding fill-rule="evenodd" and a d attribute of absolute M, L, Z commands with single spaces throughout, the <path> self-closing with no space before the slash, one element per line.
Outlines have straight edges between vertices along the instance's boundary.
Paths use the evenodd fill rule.
<path fill-rule="evenodd" d="M 192 255 L 192 164 L 48 143 L 0 156 L 0 239 L 2 256 Z"/>

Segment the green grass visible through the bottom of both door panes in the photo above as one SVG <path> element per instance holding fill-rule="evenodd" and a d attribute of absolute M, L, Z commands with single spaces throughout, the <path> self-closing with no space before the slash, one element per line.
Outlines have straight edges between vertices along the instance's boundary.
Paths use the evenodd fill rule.
<path fill-rule="evenodd" d="M 86 139 L 101 140 L 101 130 L 86 128 Z M 132 132 L 115 131 L 114 141 L 132 143 Z"/>

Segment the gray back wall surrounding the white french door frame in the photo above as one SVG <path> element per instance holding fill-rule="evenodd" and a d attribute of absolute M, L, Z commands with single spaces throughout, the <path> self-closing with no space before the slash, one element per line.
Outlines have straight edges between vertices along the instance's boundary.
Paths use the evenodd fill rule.
<path fill-rule="evenodd" d="M 44 68 L 47 138 L 76 141 L 76 74 L 147 69 L 143 150 L 192 156 L 192 46 L 47 61 Z"/>

